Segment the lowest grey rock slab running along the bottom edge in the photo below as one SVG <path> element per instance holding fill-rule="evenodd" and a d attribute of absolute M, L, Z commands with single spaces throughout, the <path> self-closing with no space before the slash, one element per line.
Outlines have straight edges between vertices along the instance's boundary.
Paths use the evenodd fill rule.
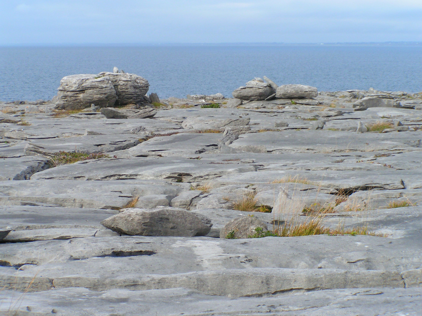
<path fill-rule="evenodd" d="M 420 288 L 411 289 L 336 289 L 311 292 L 284 293 L 268 297 L 227 298 L 208 296 L 184 289 L 162 289 L 131 291 L 112 289 L 94 292 L 83 288 L 54 289 L 49 292 L 26 293 L 19 299 L 16 311 L 36 316 L 51 315 L 94 315 L 121 313 L 127 316 L 200 316 L 251 315 L 264 313 L 279 316 L 322 316 L 322 315 L 389 315 L 400 311 L 404 315 L 418 315 L 422 304 L 415 297 L 422 294 Z M 16 293 L 3 290 L 5 302 L 14 302 Z M 394 298 L 394 299 L 392 299 Z M 386 303 L 388 301 L 388 304 Z M 8 313 L 3 304 L 0 312 Z"/>

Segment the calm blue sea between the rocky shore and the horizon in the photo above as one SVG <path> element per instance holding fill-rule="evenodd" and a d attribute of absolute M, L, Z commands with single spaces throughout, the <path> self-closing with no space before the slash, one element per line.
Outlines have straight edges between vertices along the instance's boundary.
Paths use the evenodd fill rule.
<path fill-rule="evenodd" d="M 0 101 L 49 100 L 60 79 L 113 71 L 160 98 L 222 93 L 254 77 L 319 91 L 422 91 L 422 43 L 0 47 Z"/>

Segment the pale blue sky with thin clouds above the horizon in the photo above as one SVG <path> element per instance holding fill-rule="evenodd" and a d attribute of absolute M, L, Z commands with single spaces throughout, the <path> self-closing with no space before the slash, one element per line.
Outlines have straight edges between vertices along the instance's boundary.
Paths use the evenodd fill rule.
<path fill-rule="evenodd" d="M 0 46 L 422 41 L 422 0 L 0 0 Z"/>

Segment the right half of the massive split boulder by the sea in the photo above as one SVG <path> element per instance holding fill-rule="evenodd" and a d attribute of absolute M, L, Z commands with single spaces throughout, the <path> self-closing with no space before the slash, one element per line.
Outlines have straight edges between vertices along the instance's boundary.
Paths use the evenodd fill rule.
<path fill-rule="evenodd" d="M 149 89 L 148 80 L 132 73 L 100 72 L 98 76 L 110 78 L 116 90 L 116 103 L 119 105 L 141 102 Z"/>

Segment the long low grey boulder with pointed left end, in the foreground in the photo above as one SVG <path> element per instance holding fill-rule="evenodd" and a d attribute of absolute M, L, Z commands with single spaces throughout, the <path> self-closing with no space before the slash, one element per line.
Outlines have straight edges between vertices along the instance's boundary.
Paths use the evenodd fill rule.
<path fill-rule="evenodd" d="M 182 209 L 127 209 L 101 224 L 118 233 L 138 236 L 204 236 L 211 220 Z"/>

